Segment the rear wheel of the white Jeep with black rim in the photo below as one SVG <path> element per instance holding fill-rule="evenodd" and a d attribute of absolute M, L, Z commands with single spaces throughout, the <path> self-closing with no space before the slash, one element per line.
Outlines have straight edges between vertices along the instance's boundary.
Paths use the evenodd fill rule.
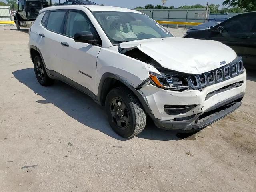
<path fill-rule="evenodd" d="M 50 86 L 53 84 L 54 80 L 47 75 L 46 70 L 44 68 L 44 64 L 40 56 L 36 56 L 34 58 L 34 71 L 35 71 L 38 82 L 42 86 Z"/>

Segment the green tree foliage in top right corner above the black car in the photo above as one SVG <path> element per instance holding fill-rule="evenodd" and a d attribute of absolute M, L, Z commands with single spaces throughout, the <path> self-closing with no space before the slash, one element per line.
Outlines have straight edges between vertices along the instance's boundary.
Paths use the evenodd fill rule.
<path fill-rule="evenodd" d="M 224 0 L 222 5 L 228 7 L 238 7 L 246 11 L 256 11 L 256 0 Z"/>

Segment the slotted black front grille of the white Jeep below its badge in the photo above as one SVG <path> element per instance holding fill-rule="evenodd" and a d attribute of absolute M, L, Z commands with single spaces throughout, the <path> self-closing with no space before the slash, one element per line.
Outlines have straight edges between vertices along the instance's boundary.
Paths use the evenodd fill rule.
<path fill-rule="evenodd" d="M 242 58 L 237 57 L 234 61 L 216 70 L 190 76 L 188 78 L 188 83 L 194 89 L 203 88 L 210 84 L 222 82 L 229 78 L 242 74 L 244 72 L 243 69 L 244 66 Z"/>

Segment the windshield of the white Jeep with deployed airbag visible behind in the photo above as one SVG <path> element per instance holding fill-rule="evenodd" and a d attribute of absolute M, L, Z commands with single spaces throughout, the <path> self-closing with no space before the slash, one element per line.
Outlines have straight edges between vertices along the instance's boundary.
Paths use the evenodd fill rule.
<path fill-rule="evenodd" d="M 173 37 L 160 24 L 144 14 L 131 12 L 92 12 L 112 43 Z"/>

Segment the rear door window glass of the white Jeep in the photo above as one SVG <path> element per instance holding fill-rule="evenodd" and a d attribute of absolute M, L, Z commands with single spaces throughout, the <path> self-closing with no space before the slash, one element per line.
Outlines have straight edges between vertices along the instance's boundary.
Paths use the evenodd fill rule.
<path fill-rule="evenodd" d="M 50 12 L 47 28 L 54 32 L 63 34 L 66 11 Z"/>

